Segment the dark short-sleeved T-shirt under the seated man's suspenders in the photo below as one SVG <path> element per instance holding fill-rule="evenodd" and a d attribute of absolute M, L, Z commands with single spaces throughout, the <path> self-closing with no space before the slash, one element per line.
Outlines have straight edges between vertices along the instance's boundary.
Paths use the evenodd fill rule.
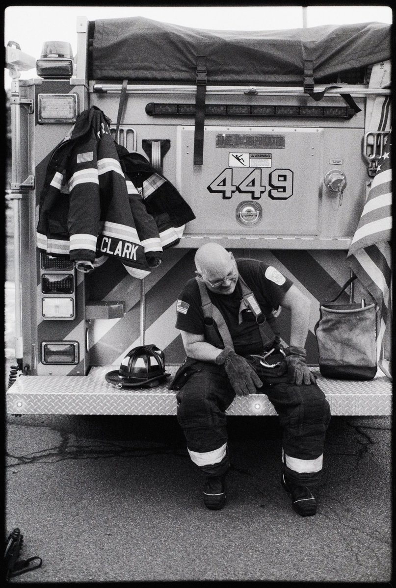
<path fill-rule="evenodd" d="M 291 280 L 283 276 L 272 266 L 257 259 L 237 259 L 239 274 L 254 293 L 262 312 L 268 318 L 272 310 L 281 304 L 285 292 L 292 285 Z M 262 350 L 262 339 L 254 314 L 246 309 L 242 312 L 242 322 L 238 324 L 239 306 L 242 291 L 239 282 L 232 294 L 216 294 L 208 290 L 211 302 L 217 306 L 234 343 L 235 352 L 239 355 L 259 353 Z M 201 295 L 195 278 L 188 280 L 179 295 L 177 302 L 176 328 L 204 335 L 204 315 L 201 307 Z"/>

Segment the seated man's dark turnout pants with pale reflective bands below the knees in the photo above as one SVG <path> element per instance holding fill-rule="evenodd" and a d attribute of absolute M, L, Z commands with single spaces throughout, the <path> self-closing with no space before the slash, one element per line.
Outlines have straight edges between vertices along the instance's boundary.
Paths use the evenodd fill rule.
<path fill-rule="evenodd" d="M 249 358 L 247 358 L 249 359 Z M 296 386 L 278 368 L 254 365 L 282 427 L 283 471 L 300 485 L 320 482 L 325 432 L 330 406 L 316 384 Z M 235 398 L 224 366 L 194 362 L 191 374 L 179 389 L 177 419 L 187 440 L 192 461 L 205 476 L 220 476 L 229 468 L 225 410 Z"/>

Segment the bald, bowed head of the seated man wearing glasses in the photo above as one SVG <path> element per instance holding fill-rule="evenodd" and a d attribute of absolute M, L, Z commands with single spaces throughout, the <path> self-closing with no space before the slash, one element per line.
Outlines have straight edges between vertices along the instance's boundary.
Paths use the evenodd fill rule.
<path fill-rule="evenodd" d="M 238 269 L 231 252 L 218 243 L 205 243 L 195 253 L 195 266 L 209 290 L 230 294 L 238 280 Z M 219 285 L 213 286 L 214 283 Z"/>

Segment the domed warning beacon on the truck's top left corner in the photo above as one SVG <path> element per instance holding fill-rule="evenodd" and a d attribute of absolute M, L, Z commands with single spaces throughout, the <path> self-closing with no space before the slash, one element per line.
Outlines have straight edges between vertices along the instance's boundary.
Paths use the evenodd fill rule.
<path fill-rule="evenodd" d="M 42 46 L 41 58 L 36 62 L 37 75 L 44 79 L 71 78 L 73 64 L 70 43 L 46 41 Z"/>

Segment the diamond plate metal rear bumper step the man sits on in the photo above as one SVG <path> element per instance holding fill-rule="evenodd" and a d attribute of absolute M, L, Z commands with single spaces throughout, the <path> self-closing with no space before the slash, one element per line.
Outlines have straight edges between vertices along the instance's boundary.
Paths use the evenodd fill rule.
<path fill-rule="evenodd" d="M 168 365 L 168 380 L 154 388 L 118 389 L 105 380 L 114 366 L 91 368 L 87 376 L 19 376 L 6 392 L 6 412 L 35 415 L 176 415 L 175 392 L 168 389 L 178 365 Z M 391 382 L 378 370 L 374 380 L 332 380 L 320 375 L 334 416 L 391 415 Z M 267 396 L 235 398 L 227 415 L 276 415 Z"/>

